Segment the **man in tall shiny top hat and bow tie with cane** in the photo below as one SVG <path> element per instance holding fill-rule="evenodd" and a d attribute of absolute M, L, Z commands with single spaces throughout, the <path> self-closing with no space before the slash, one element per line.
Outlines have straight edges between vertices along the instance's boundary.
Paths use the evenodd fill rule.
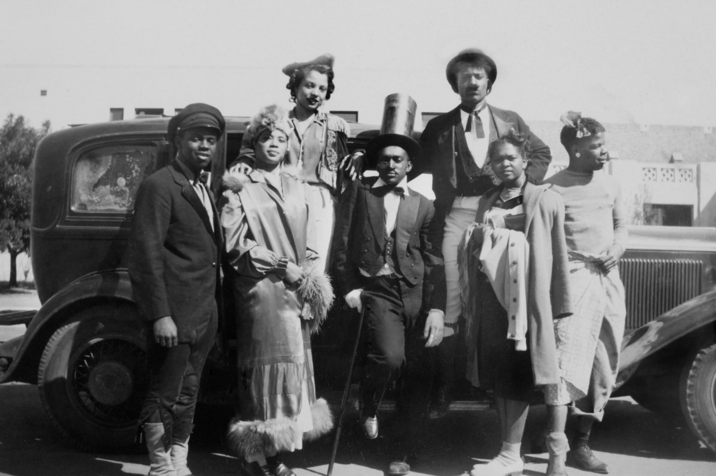
<path fill-rule="evenodd" d="M 339 293 L 364 312 L 368 354 L 362 424 L 369 439 L 378 436 L 377 410 L 385 389 L 402 376 L 399 420 L 405 426 L 388 474 L 405 475 L 430 392 L 426 347 L 442 339 L 444 305 L 433 302 L 432 295 L 433 283 L 444 278 L 432 239 L 435 209 L 407 187 L 406 175 L 420 157 L 420 145 L 411 137 L 415 102 L 407 97 L 412 114 L 402 114 L 407 123 L 399 124 L 395 117 L 406 101 L 392 100 L 396 96 L 386 99 L 382 133 L 367 146 L 379 176 L 356 180 L 342 196 L 333 260 Z"/>

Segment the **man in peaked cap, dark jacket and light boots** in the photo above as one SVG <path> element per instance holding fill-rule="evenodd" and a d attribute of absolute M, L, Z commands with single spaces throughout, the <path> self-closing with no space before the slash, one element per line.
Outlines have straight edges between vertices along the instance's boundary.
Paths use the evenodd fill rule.
<path fill-rule="evenodd" d="M 201 370 L 216 338 L 221 226 L 202 175 L 226 125 L 190 104 L 169 121 L 177 155 L 137 192 L 127 267 L 147 323 L 150 390 L 140 421 L 150 475 L 187 476 Z"/>

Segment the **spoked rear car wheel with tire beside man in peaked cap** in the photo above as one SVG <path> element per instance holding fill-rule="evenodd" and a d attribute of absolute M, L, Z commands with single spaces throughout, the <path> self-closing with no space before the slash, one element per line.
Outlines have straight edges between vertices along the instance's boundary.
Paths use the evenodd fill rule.
<path fill-rule="evenodd" d="M 47 342 L 40 399 L 59 432 L 82 450 L 141 451 L 145 333 L 135 307 L 116 303 L 79 311 Z"/>

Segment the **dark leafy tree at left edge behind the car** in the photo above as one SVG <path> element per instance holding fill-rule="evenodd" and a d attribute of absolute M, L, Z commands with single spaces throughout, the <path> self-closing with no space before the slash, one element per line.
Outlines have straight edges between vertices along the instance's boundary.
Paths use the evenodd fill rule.
<path fill-rule="evenodd" d="M 49 121 L 35 129 L 9 114 L 0 130 L 0 251 L 10 254 L 10 287 L 17 286 L 17 256 L 30 249 L 32 160 L 49 129 Z"/>

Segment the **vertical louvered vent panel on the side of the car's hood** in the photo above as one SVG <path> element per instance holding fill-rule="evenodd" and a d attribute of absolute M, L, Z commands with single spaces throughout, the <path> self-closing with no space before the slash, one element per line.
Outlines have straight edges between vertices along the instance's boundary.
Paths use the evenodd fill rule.
<path fill-rule="evenodd" d="M 627 258 L 619 273 L 627 291 L 627 330 L 701 293 L 702 261 Z"/>

